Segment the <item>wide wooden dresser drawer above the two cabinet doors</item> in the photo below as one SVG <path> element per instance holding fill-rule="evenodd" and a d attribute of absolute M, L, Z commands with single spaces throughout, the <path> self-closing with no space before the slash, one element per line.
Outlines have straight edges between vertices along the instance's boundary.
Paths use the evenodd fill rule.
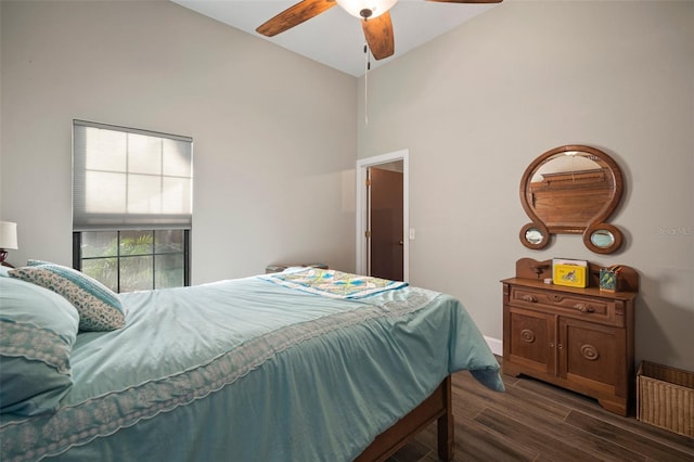
<path fill-rule="evenodd" d="M 616 303 L 612 299 L 587 297 L 568 292 L 554 292 L 532 287 L 511 286 L 512 305 L 550 309 L 553 312 L 587 319 L 606 324 L 616 324 Z"/>

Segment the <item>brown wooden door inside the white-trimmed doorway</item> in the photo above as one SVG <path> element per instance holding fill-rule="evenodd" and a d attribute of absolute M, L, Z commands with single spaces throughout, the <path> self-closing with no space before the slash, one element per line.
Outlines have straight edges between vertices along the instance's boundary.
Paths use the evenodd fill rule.
<path fill-rule="evenodd" d="M 396 167 L 398 167 L 396 163 Z M 401 168 L 401 163 L 399 163 Z M 376 278 L 402 281 L 404 236 L 402 228 L 402 171 L 369 167 L 369 267 Z"/>

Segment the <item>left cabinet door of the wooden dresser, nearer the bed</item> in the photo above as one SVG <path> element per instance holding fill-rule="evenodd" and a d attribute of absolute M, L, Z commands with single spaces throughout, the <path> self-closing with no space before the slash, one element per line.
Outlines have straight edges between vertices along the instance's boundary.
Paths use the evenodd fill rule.
<path fill-rule="evenodd" d="M 506 309 L 505 338 L 511 343 L 511 361 L 543 374 L 556 374 L 556 316 L 516 307 Z"/>

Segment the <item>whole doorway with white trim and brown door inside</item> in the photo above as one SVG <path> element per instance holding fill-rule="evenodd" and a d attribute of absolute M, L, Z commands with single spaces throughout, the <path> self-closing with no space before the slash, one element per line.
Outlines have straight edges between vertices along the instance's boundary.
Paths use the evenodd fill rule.
<path fill-rule="evenodd" d="M 411 236 L 409 151 L 358 161 L 357 272 L 408 281 Z"/>

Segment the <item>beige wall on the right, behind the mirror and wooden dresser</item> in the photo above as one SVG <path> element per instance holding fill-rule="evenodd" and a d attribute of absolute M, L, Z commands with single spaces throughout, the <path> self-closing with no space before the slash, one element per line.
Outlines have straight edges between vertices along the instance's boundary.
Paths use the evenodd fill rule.
<path fill-rule="evenodd" d="M 436 4 L 432 4 L 436 8 Z M 397 40 L 397 38 L 396 38 Z M 359 157 L 410 150 L 411 282 L 501 338 L 499 280 L 522 257 L 633 266 L 637 357 L 694 370 L 694 2 L 506 1 L 360 80 Z M 525 168 L 589 144 L 621 166 L 616 255 L 518 240 Z"/>

